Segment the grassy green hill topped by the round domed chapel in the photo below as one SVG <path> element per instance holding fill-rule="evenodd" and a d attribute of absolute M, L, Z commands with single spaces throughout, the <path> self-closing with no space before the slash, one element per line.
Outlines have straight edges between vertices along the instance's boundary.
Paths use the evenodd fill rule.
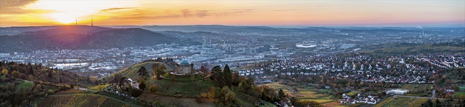
<path fill-rule="evenodd" d="M 170 62 L 168 61 L 166 63 Z M 242 107 L 253 107 L 254 105 L 256 105 L 257 102 L 264 102 L 266 104 L 265 106 L 275 106 L 271 103 L 268 103 L 272 101 L 272 99 L 274 99 L 273 97 L 267 99 L 268 101 L 260 100 L 263 97 L 256 97 L 262 96 L 262 94 L 272 94 L 273 91 L 270 91 L 269 93 L 261 93 L 261 91 L 263 91 L 264 89 L 266 90 L 268 88 L 257 87 L 253 85 L 253 79 L 245 79 L 243 77 L 239 77 L 238 73 L 232 74 L 235 75 L 233 76 L 236 79 L 236 81 L 234 82 L 235 85 L 232 85 L 231 88 L 227 88 L 218 86 L 218 81 L 220 81 L 218 80 L 219 78 L 215 80 L 212 79 L 210 76 L 201 76 L 200 74 L 202 72 L 199 72 L 199 74 L 186 76 L 173 76 L 169 73 L 165 73 L 161 75 L 162 78 L 156 79 L 153 77 L 153 74 L 151 74 L 153 64 L 163 63 L 146 61 L 139 64 L 133 64 L 124 70 L 111 74 L 109 77 L 104 77 L 104 79 L 113 80 L 114 77 L 122 75 L 121 78 L 130 78 L 132 80 L 137 81 L 133 82 L 133 84 L 146 84 L 147 88 L 143 89 L 143 92 L 140 94 L 140 96 L 137 97 L 138 99 L 145 100 L 146 102 L 160 102 L 161 104 L 173 105 L 178 107 L 215 107 L 225 104 L 225 102 L 227 102 L 228 100 L 233 100 L 235 105 Z M 168 65 L 165 64 L 165 66 L 167 66 L 165 72 L 172 71 L 172 69 L 169 68 Z M 139 73 L 137 72 L 142 67 L 145 67 L 148 71 L 148 76 L 143 79 L 140 78 L 140 76 L 138 75 Z M 213 75 L 215 74 L 213 73 Z M 243 82 L 240 83 L 240 81 Z M 247 83 L 245 83 L 246 81 Z M 243 84 L 244 86 L 241 86 L 239 84 Z M 150 88 L 148 88 L 152 86 L 156 86 L 157 90 L 152 91 L 150 90 Z M 215 91 L 216 89 L 218 89 L 219 91 Z M 254 93 L 254 91 L 256 92 Z M 226 92 L 228 94 L 221 92 Z M 252 93 L 258 95 L 251 95 Z M 234 94 L 233 97 L 231 97 L 232 99 L 223 98 L 226 95 L 231 94 Z"/>

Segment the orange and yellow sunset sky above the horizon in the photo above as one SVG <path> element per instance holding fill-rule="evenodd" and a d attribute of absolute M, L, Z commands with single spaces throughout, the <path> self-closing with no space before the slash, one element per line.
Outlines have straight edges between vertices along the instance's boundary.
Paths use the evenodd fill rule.
<path fill-rule="evenodd" d="M 465 24 L 465 0 L 1 0 L 0 26 Z"/>

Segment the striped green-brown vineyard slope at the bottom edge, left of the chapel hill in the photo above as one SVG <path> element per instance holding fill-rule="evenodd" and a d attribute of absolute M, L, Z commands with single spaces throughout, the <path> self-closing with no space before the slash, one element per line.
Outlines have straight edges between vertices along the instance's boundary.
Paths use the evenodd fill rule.
<path fill-rule="evenodd" d="M 50 95 L 40 107 L 134 107 L 125 102 L 97 94 Z"/>

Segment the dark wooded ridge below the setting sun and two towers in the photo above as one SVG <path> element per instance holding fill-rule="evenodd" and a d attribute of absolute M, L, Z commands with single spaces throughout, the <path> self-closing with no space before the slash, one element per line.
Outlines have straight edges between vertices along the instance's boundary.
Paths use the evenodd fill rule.
<path fill-rule="evenodd" d="M 0 36 L 0 52 L 30 52 L 38 49 L 109 49 L 173 42 L 181 45 L 199 44 L 141 28 L 114 29 L 97 26 L 66 26 L 13 36 Z"/>

